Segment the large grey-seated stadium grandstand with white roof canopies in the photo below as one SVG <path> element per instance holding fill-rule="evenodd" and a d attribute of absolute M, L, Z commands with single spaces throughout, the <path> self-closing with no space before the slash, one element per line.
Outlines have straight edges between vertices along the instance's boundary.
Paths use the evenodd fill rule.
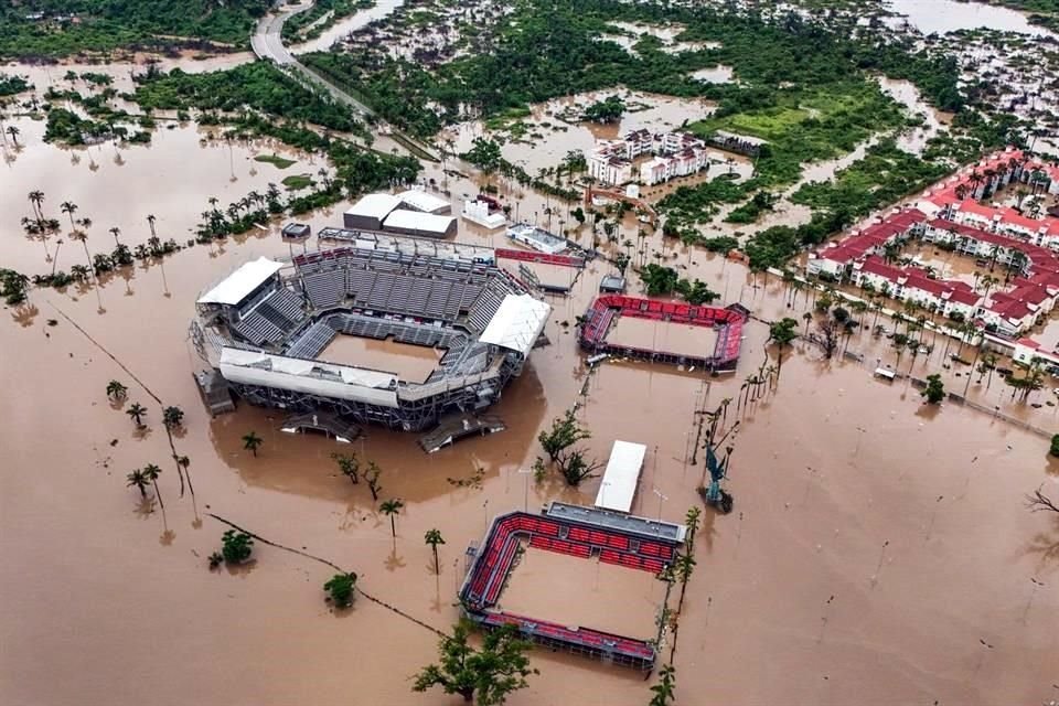
<path fill-rule="evenodd" d="M 244 264 L 197 300 L 200 356 L 249 404 L 408 431 L 495 403 L 552 308 L 478 249 L 436 256 L 414 238 L 386 243 Z M 434 349 L 438 359 L 425 379 L 406 379 L 396 361 L 328 360 L 339 336 Z"/>

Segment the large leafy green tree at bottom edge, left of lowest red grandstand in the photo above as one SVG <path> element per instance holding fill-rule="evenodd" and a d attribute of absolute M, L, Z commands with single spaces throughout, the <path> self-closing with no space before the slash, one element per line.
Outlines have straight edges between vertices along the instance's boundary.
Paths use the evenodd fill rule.
<path fill-rule="evenodd" d="M 526 656 L 530 642 L 520 638 L 514 625 L 485 633 L 481 650 L 468 644 L 468 627 L 460 623 L 451 638 L 442 638 L 438 664 L 424 667 L 415 676 L 411 689 L 426 692 L 440 686 L 446 694 L 459 694 L 467 703 L 477 696 L 478 706 L 496 706 L 513 692 L 525 688 L 526 677 L 538 673 L 530 667 Z"/>

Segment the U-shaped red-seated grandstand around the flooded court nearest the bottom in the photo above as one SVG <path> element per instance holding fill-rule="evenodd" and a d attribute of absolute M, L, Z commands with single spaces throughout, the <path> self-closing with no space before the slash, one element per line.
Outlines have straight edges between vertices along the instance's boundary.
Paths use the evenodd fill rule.
<path fill-rule="evenodd" d="M 575 506 L 563 505 L 558 510 L 570 507 Z M 498 606 L 521 547 L 598 558 L 605 564 L 656 575 L 674 559 L 684 538 L 668 523 L 589 507 L 576 510 L 580 511 L 576 516 L 512 512 L 495 517 L 460 588 L 460 603 L 467 616 L 485 629 L 513 624 L 524 637 L 547 646 L 649 671 L 656 656 L 652 641 L 513 614 Z M 651 525 L 665 525 L 666 532 L 652 533 Z"/>

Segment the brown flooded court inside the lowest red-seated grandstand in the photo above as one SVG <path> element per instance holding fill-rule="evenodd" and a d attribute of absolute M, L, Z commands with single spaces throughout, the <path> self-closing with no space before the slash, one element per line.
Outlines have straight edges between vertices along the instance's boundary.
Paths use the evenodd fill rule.
<path fill-rule="evenodd" d="M 541 587 L 547 585 L 548 590 Z M 576 596 L 577 600 L 566 600 Z M 498 610 L 560 625 L 650 640 L 665 584 L 650 571 L 527 547 L 500 596 Z"/>

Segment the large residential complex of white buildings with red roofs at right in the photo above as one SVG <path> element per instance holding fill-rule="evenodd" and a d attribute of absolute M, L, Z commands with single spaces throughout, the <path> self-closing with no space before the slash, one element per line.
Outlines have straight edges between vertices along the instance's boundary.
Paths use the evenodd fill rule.
<path fill-rule="evenodd" d="M 974 321 L 1014 341 L 1016 347 L 1038 351 L 1039 345 L 1028 339 L 1015 340 L 1059 303 L 1059 218 L 1031 218 L 1010 206 L 974 201 L 1016 180 L 1034 192 L 1059 192 L 1059 169 L 1026 160 L 1018 150 L 1005 150 L 928 190 L 916 207 L 814 253 L 806 271 L 847 279 L 932 312 Z M 988 264 L 991 271 L 999 266 L 1007 276 L 986 276 L 972 285 L 939 279 L 931 268 L 890 264 L 900 245 L 913 237 L 974 257 Z M 1059 360 L 1047 352 L 1034 354 Z"/>

